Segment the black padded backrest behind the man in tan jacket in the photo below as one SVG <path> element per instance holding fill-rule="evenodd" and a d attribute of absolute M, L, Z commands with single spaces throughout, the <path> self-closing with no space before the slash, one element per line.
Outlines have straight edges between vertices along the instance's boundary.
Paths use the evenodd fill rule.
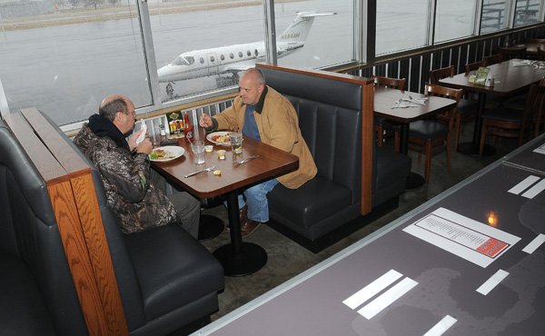
<path fill-rule="evenodd" d="M 265 81 L 290 100 L 299 116 L 318 176 L 361 199 L 362 84 L 260 68 Z"/>

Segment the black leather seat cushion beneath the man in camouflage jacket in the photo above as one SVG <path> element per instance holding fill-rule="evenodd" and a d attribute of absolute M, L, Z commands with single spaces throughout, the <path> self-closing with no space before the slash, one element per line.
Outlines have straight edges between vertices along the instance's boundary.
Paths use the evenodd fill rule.
<path fill-rule="evenodd" d="M 201 244 L 166 225 L 124 236 L 144 301 L 146 320 L 175 311 L 223 287 L 223 269 Z M 187 316 L 185 316 L 187 318 Z"/>

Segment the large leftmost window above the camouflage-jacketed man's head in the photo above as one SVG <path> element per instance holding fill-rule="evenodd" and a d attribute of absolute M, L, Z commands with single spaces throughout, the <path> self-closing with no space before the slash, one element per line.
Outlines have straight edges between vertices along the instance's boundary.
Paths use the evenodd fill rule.
<path fill-rule="evenodd" d="M 130 15 L 137 10 L 126 1 L 108 4 L 100 11 L 83 3 L 55 11 L 43 1 L 0 8 L 0 78 L 11 111 L 35 106 L 64 125 L 87 120 L 107 94 L 153 104 L 140 24 Z"/>

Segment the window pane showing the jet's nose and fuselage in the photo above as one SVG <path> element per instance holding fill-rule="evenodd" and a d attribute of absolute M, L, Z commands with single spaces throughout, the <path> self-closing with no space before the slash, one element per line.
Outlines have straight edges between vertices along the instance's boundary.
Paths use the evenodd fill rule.
<path fill-rule="evenodd" d="M 179 54 L 193 51 L 193 55 L 199 54 L 206 58 L 206 62 L 203 60 L 202 64 L 205 65 L 203 67 L 208 75 L 186 72 L 170 77 L 159 76 L 159 90 L 163 103 L 212 93 L 236 85 L 237 81 L 233 74 L 221 73 L 219 71 L 222 69 L 218 69 L 220 61 L 223 61 L 227 54 L 222 55 L 222 52 L 214 49 L 263 41 L 261 3 L 255 5 L 249 2 L 239 5 L 233 1 L 225 1 L 222 8 L 216 8 L 207 2 L 202 3 L 195 6 L 186 0 L 148 2 L 158 70 Z M 199 52 L 203 50 L 207 50 L 204 52 L 206 54 Z M 242 58 L 243 54 L 239 56 Z M 229 54 L 229 57 L 234 59 L 235 54 L 233 56 Z M 159 73 L 163 74 L 161 70 Z M 169 83 L 169 79 L 174 79 L 173 84 Z M 167 88 L 172 91 L 167 91 Z"/>

